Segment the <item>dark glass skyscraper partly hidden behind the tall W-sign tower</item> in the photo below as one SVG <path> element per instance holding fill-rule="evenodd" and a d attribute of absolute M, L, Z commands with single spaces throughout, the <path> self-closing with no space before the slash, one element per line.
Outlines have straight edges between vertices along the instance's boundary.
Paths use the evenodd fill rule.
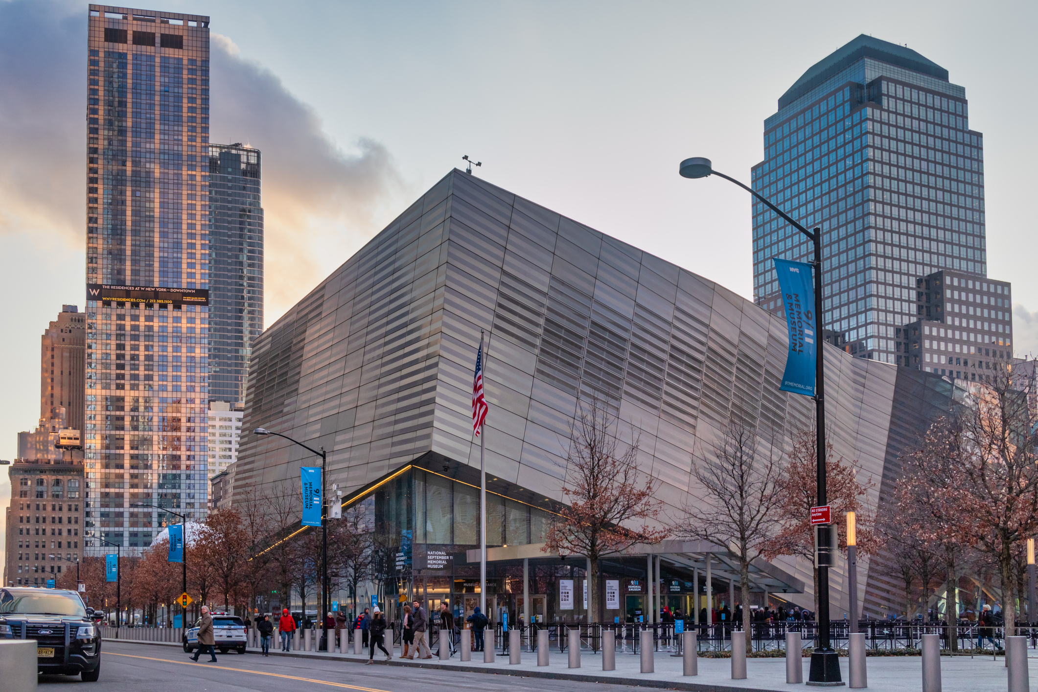
<path fill-rule="evenodd" d="M 211 400 L 244 404 L 252 341 L 263 331 L 260 192 L 258 149 L 209 145 Z"/>

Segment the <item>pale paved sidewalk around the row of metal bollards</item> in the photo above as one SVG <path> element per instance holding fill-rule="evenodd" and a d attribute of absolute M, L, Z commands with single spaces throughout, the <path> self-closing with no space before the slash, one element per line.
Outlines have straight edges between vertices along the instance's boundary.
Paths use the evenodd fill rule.
<path fill-rule="evenodd" d="M 114 640 L 113 640 L 114 641 Z M 154 644 L 158 646 L 175 646 L 180 644 L 164 642 L 126 641 L 122 643 Z M 249 654 L 258 649 L 249 648 Z M 282 653 L 271 651 L 271 657 L 284 656 L 292 658 L 312 658 L 318 660 L 340 660 L 350 667 L 360 665 L 367 660 L 364 656 L 353 654 L 325 654 L 310 652 Z M 233 657 L 237 654 L 225 654 Z M 733 681 L 729 659 L 700 659 L 699 675 L 685 677 L 681 674 L 682 660 L 670 653 L 658 652 L 655 657 L 655 672 L 640 672 L 640 658 L 629 652 L 617 652 L 617 669 L 602 670 L 602 657 L 584 651 L 580 657 L 580 668 L 569 668 L 569 655 L 559 653 L 557 648 L 549 656 L 549 665 L 538 666 L 537 654 L 523 651 L 522 663 L 510 665 L 509 657 L 498 655 L 494 663 L 484 663 L 482 652 L 472 653 L 472 661 L 462 663 L 458 655 L 447 661 L 434 658 L 425 661 L 408 661 L 401 659 L 400 649 L 393 649 L 392 661 L 385 661 L 385 656 L 376 649 L 375 662 L 378 665 L 417 666 L 421 668 L 457 670 L 464 672 L 492 673 L 498 675 L 518 675 L 526 677 L 543 677 L 554 680 L 571 680 L 589 683 L 612 683 L 640 687 L 691 690 L 695 692 L 730 692 L 746 690 L 757 692 L 764 690 L 789 690 L 786 684 L 785 659 L 747 659 L 746 680 Z M 1029 659 L 1032 682 L 1038 681 L 1038 658 Z M 808 679 L 809 659 L 803 659 L 803 679 Z M 967 657 L 943 657 L 940 660 L 943 688 L 945 692 L 1004 692 L 1008 687 L 1008 676 L 1005 659 L 992 661 L 990 657 L 969 659 Z M 356 669 L 360 672 L 359 669 Z M 841 659 L 843 680 L 848 680 L 847 659 Z M 375 666 L 365 668 L 364 672 L 373 677 L 378 676 Z M 868 660 L 869 688 L 891 692 L 918 692 L 922 688 L 922 659 L 919 657 L 870 657 Z"/>

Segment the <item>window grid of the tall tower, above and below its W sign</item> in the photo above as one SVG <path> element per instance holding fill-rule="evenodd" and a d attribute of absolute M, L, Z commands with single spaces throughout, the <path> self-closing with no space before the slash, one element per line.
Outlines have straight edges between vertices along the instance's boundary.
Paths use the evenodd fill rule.
<path fill-rule="evenodd" d="M 204 271 L 208 268 L 191 256 L 192 251 L 204 252 L 207 240 L 196 217 L 199 213 L 208 214 L 202 206 L 208 201 L 208 171 L 204 166 L 197 166 L 196 160 L 204 161 L 209 140 L 208 18 L 166 13 L 162 17 L 166 18 L 160 20 L 163 23 L 180 22 L 180 26 L 171 26 L 167 33 L 182 34 L 183 44 L 170 40 L 166 41 L 170 48 L 161 48 L 133 41 L 133 46 L 119 45 L 119 50 L 113 51 L 113 45 L 103 40 L 101 29 L 117 26 L 132 30 L 135 23 L 90 18 L 87 46 L 87 280 L 90 282 L 186 287 L 208 284 Z M 183 48 L 176 48 L 177 45 Z M 154 91 L 144 88 L 148 85 Z M 201 156 L 197 154 L 199 149 Z M 157 198 L 166 209 L 156 204 Z M 187 423 L 197 420 L 196 416 L 204 416 L 208 315 L 204 308 L 165 311 L 97 302 L 89 304 L 88 311 L 93 333 L 87 339 L 87 398 L 92 399 L 92 406 L 88 406 L 91 410 L 84 431 L 88 475 L 85 490 L 92 505 L 89 509 L 95 516 L 87 521 L 91 527 L 110 531 L 112 537 L 129 538 L 129 547 L 143 547 L 149 542 L 151 531 L 128 529 L 151 520 L 129 513 L 129 521 L 124 521 L 114 516 L 124 513 L 104 511 L 112 507 L 103 505 L 116 504 L 104 491 L 112 490 L 109 486 L 147 491 L 145 494 L 153 499 L 161 496 L 162 500 L 189 509 L 194 504 L 196 518 L 204 518 L 206 490 L 202 483 L 192 482 L 192 476 L 199 475 L 193 473 L 192 466 L 200 466 L 200 478 L 204 479 L 207 454 L 185 453 L 204 452 L 204 437 L 186 435 L 187 430 L 181 431 L 179 437 L 161 435 L 171 431 L 159 430 L 157 421 L 177 417 L 182 427 L 189 428 L 191 425 Z M 189 317 L 190 312 L 194 314 Z M 127 337 L 126 333 L 111 329 L 112 324 L 119 324 L 120 321 L 112 320 L 117 316 L 124 317 L 124 324 L 137 322 L 134 326 L 144 329 L 147 325 L 155 331 L 138 335 L 141 340 L 137 343 L 125 341 L 113 348 L 111 341 Z M 172 329 L 166 332 L 172 322 L 180 323 L 175 327 L 180 334 L 175 337 Z M 189 322 L 193 336 L 185 338 Z M 164 333 L 159 332 L 160 324 Z M 98 329 L 105 325 L 107 331 Z M 173 347 L 174 338 L 194 345 Z M 131 364 L 136 372 L 130 369 Z M 167 375 L 174 370 L 184 373 Z M 117 377 L 124 379 L 116 380 Z M 136 379 L 130 380 L 131 377 Z M 173 384 L 175 381 L 181 383 Z M 195 391 L 187 392 L 189 387 Z M 167 393 L 179 395 L 160 395 Z M 187 393 L 192 395 L 185 396 Z M 111 412 L 102 414 L 98 402 L 115 395 L 127 402 L 133 398 L 134 407 L 139 410 L 131 411 L 125 405 L 126 411 L 118 412 L 125 414 L 120 416 L 124 420 L 113 423 Z M 179 416 L 161 415 L 172 408 L 180 409 Z M 124 430 L 117 430 L 119 424 Z M 102 432 L 122 435 L 101 435 Z M 122 446 L 115 451 L 109 445 L 119 437 Z M 142 451 L 131 445 L 134 438 L 136 446 L 141 446 L 142 438 L 149 438 L 149 453 L 133 453 Z M 175 444 L 170 440 L 175 440 Z M 114 463 L 109 461 L 112 454 L 125 459 Z M 170 474 L 171 471 L 176 473 Z M 159 478 L 169 475 L 179 477 L 175 482 L 167 483 L 175 488 L 161 488 Z M 127 500 L 129 497 L 121 498 L 116 506 L 125 506 Z"/>

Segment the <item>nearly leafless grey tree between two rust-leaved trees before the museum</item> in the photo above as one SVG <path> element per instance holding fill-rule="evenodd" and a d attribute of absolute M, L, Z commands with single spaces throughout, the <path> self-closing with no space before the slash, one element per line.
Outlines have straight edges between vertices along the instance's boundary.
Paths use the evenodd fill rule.
<path fill-rule="evenodd" d="M 731 420 L 712 459 L 693 460 L 692 475 L 705 497 L 687 502 L 679 534 L 731 549 L 739 558 L 742 628 L 749 632 L 749 563 L 774 537 L 783 502 L 783 458 L 748 425 Z M 750 638 L 746 637 L 747 651 Z"/>

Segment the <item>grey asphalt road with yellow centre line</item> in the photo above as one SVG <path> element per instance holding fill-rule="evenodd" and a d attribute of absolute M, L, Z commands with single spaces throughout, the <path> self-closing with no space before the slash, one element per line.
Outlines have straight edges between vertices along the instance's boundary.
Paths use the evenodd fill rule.
<path fill-rule="evenodd" d="M 93 692 L 230 692 L 308 690 L 360 692 L 631 692 L 623 685 L 515 677 L 343 661 L 315 661 L 257 654 L 217 653 L 217 663 L 198 663 L 180 648 L 106 641 L 102 646 L 101 679 L 82 683 L 79 676 L 42 675 L 40 690 L 83 686 Z"/>

